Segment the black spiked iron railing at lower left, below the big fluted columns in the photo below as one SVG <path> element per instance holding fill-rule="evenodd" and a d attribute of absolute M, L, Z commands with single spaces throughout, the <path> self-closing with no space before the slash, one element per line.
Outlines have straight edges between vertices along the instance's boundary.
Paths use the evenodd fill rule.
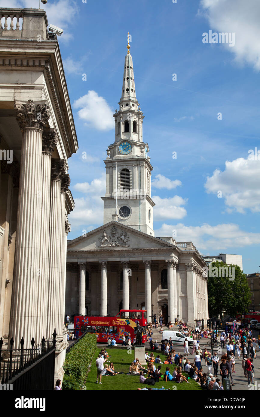
<path fill-rule="evenodd" d="M 20 349 L 13 349 L 13 337 L 10 349 L 2 349 L 0 340 L 0 383 L 12 384 L 13 390 L 19 389 L 53 389 L 54 365 L 56 349 L 56 329 L 53 338 L 42 339 L 35 345 L 31 340 L 31 348 L 24 349 L 24 339 L 20 341 Z"/>

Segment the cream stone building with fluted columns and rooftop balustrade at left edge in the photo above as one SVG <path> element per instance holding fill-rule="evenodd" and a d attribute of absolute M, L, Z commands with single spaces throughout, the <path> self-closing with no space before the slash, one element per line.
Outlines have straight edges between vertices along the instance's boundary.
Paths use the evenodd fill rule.
<path fill-rule="evenodd" d="M 56 35 L 41 9 L 0 10 L 0 337 L 51 337 L 62 377 L 69 191 L 78 148 Z"/>

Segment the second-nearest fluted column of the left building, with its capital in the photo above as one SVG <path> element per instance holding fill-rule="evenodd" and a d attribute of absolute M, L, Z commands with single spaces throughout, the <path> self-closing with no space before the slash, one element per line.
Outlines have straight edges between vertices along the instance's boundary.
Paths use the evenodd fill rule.
<path fill-rule="evenodd" d="M 36 322 L 36 340 L 41 342 L 46 337 L 47 325 L 47 295 L 48 295 L 48 252 L 50 230 L 50 189 L 51 189 L 51 154 L 57 143 L 55 129 L 45 129 L 42 137 L 41 157 L 41 232 L 40 259 L 38 274 L 38 317 Z"/>

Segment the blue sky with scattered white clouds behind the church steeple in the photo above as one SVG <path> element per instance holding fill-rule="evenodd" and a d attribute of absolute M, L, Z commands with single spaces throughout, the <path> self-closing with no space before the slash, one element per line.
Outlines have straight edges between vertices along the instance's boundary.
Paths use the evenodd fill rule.
<path fill-rule="evenodd" d="M 59 45 L 79 142 L 69 160 L 69 239 L 103 223 L 103 159 L 115 139 L 129 31 L 156 180 L 155 236 L 176 229 L 176 240 L 193 241 L 201 254 L 241 254 L 245 273 L 259 271 L 260 161 L 248 159 L 250 149 L 260 149 L 259 1 L 48 0 L 44 9 L 48 22 L 64 29 Z M 202 43 L 209 30 L 235 33 L 235 46 Z"/>

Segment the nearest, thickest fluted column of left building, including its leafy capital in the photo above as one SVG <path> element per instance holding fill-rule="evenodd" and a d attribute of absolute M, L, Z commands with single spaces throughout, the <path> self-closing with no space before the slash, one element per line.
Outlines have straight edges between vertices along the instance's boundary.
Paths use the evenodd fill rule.
<path fill-rule="evenodd" d="M 50 111 L 46 101 L 33 100 L 15 102 L 15 111 L 22 147 L 9 337 L 15 341 L 14 348 L 20 347 L 23 337 L 27 348 L 35 336 L 38 315 L 42 133 Z"/>

